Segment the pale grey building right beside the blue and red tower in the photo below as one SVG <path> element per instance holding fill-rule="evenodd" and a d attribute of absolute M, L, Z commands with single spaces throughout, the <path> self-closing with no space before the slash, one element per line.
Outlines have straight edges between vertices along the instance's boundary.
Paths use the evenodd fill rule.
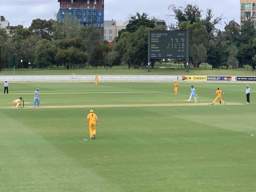
<path fill-rule="evenodd" d="M 127 22 L 106 20 L 104 21 L 104 40 L 111 42 L 118 37 L 118 32 L 122 29 L 126 29 Z"/>

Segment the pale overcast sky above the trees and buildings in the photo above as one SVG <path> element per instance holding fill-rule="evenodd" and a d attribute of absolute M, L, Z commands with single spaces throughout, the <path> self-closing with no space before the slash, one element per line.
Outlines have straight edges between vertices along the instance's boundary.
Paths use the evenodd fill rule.
<path fill-rule="evenodd" d="M 210 7 L 216 16 L 224 14 L 223 21 L 235 19 L 239 23 L 239 0 L 187 0 L 197 3 L 203 10 Z M 127 20 L 130 14 L 146 12 L 149 16 L 165 19 L 167 24 L 175 22 L 174 18 L 168 18 L 171 14 L 169 4 L 182 6 L 184 0 L 105 0 L 104 20 Z M 55 18 L 54 13 L 59 10 L 58 0 L 0 0 L 0 15 L 4 15 L 12 26 L 22 24 L 29 27 L 35 18 L 49 20 Z M 217 26 L 224 30 L 224 22 Z"/>

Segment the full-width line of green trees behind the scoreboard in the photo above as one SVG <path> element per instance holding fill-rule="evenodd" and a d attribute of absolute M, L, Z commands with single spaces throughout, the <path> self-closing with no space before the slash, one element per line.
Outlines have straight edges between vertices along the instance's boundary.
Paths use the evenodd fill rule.
<path fill-rule="evenodd" d="M 225 23 L 224 31 L 216 26 L 223 15 L 216 17 L 213 9 L 200 9 L 197 4 L 169 5 L 169 17 L 176 19 L 171 30 L 189 31 L 189 60 L 194 67 L 207 62 L 214 68 L 225 66 L 253 68 L 256 60 L 256 31 L 253 23 L 244 21 L 240 26 L 234 20 Z M 204 13 L 204 14 L 203 14 Z M 121 65 L 147 65 L 148 31 L 164 30 L 155 26 L 155 17 L 146 13 L 130 15 L 126 29 L 111 44 L 101 41 L 101 33 L 93 26 L 81 26 L 66 17 L 63 23 L 56 20 L 34 19 L 29 28 L 21 25 L 0 29 L 2 68 L 11 68 L 12 55 L 16 66 L 28 68 L 109 67 Z M 20 62 L 22 60 L 23 62 Z M 156 60 L 151 60 L 154 68 Z"/>

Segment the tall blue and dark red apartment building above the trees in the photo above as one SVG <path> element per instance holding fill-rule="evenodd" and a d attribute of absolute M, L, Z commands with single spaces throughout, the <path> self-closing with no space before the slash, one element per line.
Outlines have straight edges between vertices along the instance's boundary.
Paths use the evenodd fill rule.
<path fill-rule="evenodd" d="M 58 0 L 58 21 L 73 17 L 81 25 L 93 25 L 104 36 L 104 0 Z"/>

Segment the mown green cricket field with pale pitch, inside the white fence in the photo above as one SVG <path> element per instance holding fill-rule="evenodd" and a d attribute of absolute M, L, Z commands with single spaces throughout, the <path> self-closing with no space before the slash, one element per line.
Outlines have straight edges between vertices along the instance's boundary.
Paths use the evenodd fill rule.
<path fill-rule="evenodd" d="M 249 105 L 244 83 L 193 83 L 200 103 L 186 102 L 190 85 L 174 95 L 173 83 L 10 83 L 0 94 L 0 191 L 255 191 L 256 84 Z M 208 105 L 217 87 L 226 105 Z M 25 109 L 14 109 L 20 96 Z"/>

